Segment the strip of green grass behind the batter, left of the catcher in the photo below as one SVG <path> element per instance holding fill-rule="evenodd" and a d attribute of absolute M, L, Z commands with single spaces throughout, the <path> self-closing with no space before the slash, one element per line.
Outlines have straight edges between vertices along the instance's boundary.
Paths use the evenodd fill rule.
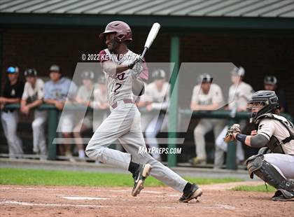
<path fill-rule="evenodd" d="M 206 179 L 184 177 L 190 182 L 199 185 L 212 183 L 228 183 L 243 181 L 241 179 Z M 102 186 L 124 187 L 132 186 L 133 179 L 130 174 L 110 174 L 98 172 L 69 172 L 43 169 L 15 169 L 0 168 L 1 185 L 28 185 L 28 186 Z M 145 186 L 164 186 L 163 183 L 150 177 L 146 179 Z"/>

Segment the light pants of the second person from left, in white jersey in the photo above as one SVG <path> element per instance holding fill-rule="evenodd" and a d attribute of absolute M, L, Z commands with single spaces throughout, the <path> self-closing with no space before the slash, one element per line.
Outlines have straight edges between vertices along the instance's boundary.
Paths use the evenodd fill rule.
<path fill-rule="evenodd" d="M 47 119 L 46 111 L 34 111 L 34 121 L 31 123 L 33 129 L 33 151 L 40 153 L 45 157 L 47 155 L 47 147 L 45 141 L 44 125 Z"/>

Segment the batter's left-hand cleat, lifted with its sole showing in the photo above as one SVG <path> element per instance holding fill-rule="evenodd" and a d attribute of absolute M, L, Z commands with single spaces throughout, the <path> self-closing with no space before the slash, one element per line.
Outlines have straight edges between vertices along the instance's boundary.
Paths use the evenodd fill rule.
<path fill-rule="evenodd" d="M 139 195 L 141 190 L 144 188 L 144 181 L 149 176 L 151 171 L 151 165 L 146 164 L 146 165 L 140 165 L 139 169 L 133 176 L 134 178 L 134 188 L 132 190 L 132 196 L 136 197 Z"/>

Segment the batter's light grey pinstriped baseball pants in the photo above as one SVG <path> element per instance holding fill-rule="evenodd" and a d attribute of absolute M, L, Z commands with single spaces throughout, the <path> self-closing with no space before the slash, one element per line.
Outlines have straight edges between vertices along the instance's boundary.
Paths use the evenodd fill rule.
<path fill-rule="evenodd" d="M 139 164 L 149 163 L 152 167 L 151 176 L 174 190 L 182 192 L 186 186 L 186 180 L 148 153 L 139 153 L 139 148 L 146 148 L 146 145 L 141 132 L 141 113 L 137 106 L 119 101 L 118 107 L 111 110 L 109 117 L 104 120 L 90 139 L 85 150 L 87 156 L 125 170 L 129 168 L 131 160 Z M 117 139 L 127 153 L 108 148 Z"/>

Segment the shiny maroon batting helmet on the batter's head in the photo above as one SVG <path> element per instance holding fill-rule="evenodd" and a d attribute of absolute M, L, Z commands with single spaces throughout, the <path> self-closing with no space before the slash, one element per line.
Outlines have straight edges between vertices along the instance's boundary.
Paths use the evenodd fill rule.
<path fill-rule="evenodd" d="M 123 21 L 109 22 L 105 31 L 99 34 L 100 39 L 105 39 L 105 34 L 115 33 L 114 39 L 118 42 L 132 41 L 132 31 L 129 25 Z"/>

